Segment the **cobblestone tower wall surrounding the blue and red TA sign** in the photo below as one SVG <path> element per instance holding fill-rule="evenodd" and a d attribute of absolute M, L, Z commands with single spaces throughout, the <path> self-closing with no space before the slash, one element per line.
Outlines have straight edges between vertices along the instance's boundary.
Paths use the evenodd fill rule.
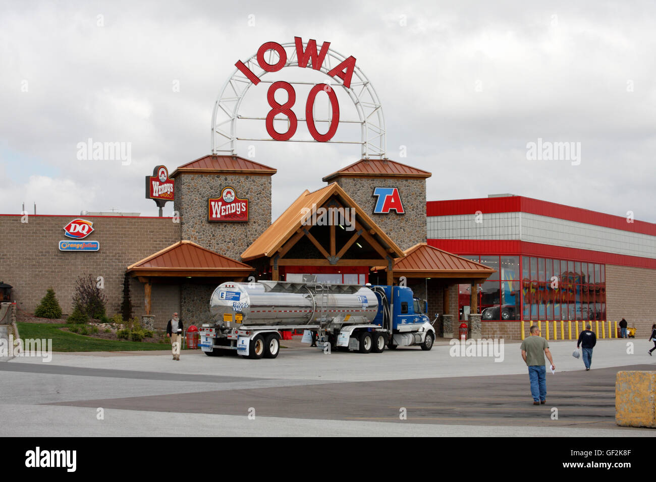
<path fill-rule="evenodd" d="M 426 242 L 426 179 L 354 178 L 339 176 L 335 182 L 392 238 L 401 249 Z M 377 197 L 374 188 L 399 188 L 405 214 L 373 214 Z"/>

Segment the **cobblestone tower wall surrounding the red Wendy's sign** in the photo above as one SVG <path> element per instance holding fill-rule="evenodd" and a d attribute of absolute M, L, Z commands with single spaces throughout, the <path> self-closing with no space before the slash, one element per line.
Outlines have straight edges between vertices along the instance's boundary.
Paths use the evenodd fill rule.
<path fill-rule="evenodd" d="M 180 214 L 182 239 L 230 258 L 241 253 L 271 224 L 271 176 L 192 174 L 175 178 L 174 209 Z M 209 222 L 208 199 L 232 186 L 238 198 L 249 200 L 248 222 Z"/>

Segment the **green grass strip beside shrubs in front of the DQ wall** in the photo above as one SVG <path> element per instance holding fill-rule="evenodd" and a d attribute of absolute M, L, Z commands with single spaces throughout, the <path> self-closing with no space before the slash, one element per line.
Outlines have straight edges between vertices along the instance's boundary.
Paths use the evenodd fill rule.
<path fill-rule="evenodd" d="M 20 338 L 52 338 L 52 351 L 128 351 L 171 350 L 171 344 L 100 340 L 92 336 L 62 331 L 72 325 L 55 323 L 16 323 Z"/>

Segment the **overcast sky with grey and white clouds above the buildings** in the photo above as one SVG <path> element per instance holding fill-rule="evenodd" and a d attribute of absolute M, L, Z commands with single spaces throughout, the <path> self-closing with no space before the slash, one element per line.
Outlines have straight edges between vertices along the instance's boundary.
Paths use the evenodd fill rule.
<path fill-rule="evenodd" d="M 38 214 L 157 215 L 144 176 L 210 153 L 235 62 L 298 36 L 357 58 L 382 102 L 388 157 L 433 173 L 428 200 L 514 193 L 656 222 L 653 2 L 0 5 L 0 213 L 35 202 Z M 348 133 L 340 125 L 335 140 Z M 131 163 L 77 159 L 89 138 L 131 143 Z M 580 145 L 580 159 L 527 159 L 539 138 Z M 349 144 L 249 144 L 278 170 L 274 218 L 360 157 Z"/>

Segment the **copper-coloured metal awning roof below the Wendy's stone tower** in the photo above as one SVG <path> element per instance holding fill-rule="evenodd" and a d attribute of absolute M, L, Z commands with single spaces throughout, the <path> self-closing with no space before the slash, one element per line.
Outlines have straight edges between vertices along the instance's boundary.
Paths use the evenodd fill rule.
<path fill-rule="evenodd" d="M 127 267 L 134 275 L 232 276 L 247 275 L 253 268 L 192 241 L 178 241 Z"/>

